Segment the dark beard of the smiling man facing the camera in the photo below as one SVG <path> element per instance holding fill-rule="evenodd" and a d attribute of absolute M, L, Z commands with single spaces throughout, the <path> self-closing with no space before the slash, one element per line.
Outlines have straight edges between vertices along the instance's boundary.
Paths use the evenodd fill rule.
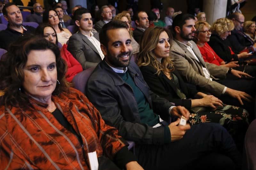
<path fill-rule="evenodd" d="M 121 58 L 122 55 L 129 55 L 129 58 L 127 60 L 120 61 L 119 58 Z M 107 56 L 108 56 L 108 61 L 114 67 L 127 67 L 130 64 L 132 52 L 128 51 L 125 53 L 121 53 L 115 57 L 115 56 L 111 55 L 108 51 Z"/>

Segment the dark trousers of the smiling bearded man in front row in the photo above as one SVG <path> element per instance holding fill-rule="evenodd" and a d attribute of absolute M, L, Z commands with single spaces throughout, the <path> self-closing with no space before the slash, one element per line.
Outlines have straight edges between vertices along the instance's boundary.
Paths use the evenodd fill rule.
<path fill-rule="evenodd" d="M 241 155 L 232 137 L 218 123 L 193 125 L 181 140 L 170 144 L 135 145 L 135 152 L 145 170 L 241 167 Z"/>

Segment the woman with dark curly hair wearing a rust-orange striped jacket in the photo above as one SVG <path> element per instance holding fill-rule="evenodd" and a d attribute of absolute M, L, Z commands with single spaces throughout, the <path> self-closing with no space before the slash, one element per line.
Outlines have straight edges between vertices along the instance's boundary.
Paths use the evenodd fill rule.
<path fill-rule="evenodd" d="M 141 168 L 118 131 L 69 87 L 55 44 L 24 35 L 9 49 L 0 65 L 2 168 Z"/>

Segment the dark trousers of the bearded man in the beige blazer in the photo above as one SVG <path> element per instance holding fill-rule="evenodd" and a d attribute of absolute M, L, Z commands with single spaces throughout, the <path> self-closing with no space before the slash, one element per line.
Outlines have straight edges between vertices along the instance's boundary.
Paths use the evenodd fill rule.
<path fill-rule="evenodd" d="M 255 97 L 255 91 L 256 91 L 256 78 L 253 79 L 244 79 L 244 78 L 236 78 L 233 75 L 229 75 L 227 79 L 222 79 L 222 80 L 215 80 L 216 82 L 225 85 L 231 89 L 234 90 L 239 90 L 242 92 L 246 92 L 247 94 L 250 94 L 252 97 Z M 221 95 L 219 99 L 229 105 L 233 106 L 238 106 L 238 107 L 243 107 L 249 112 L 249 121 L 251 122 L 253 119 L 255 119 L 255 113 L 254 113 L 254 101 L 248 102 L 245 100 L 242 100 L 244 105 L 241 105 L 240 102 L 227 95 Z"/>

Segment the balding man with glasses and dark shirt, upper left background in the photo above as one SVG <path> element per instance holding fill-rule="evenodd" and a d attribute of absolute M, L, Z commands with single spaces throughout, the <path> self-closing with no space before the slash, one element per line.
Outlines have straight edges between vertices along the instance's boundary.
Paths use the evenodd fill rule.
<path fill-rule="evenodd" d="M 26 22 L 36 22 L 38 24 L 43 22 L 43 6 L 38 2 L 33 5 L 34 13 L 26 18 Z"/>

